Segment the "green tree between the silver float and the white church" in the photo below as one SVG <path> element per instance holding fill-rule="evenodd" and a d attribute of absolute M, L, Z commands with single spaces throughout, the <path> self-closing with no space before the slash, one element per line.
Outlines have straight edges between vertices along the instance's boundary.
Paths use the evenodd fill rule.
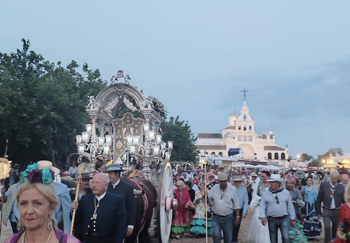
<path fill-rule="evenodd" d="M 180 121 L 179 116 L 170 117 L 169 121 L 162 122 L 163 141 L 174 141 L 172 161 L 184 161 L 196 163 L 196 156 L 199 153 L 194 145 L 197 138 L 193 136 L 188 121 Z"/>

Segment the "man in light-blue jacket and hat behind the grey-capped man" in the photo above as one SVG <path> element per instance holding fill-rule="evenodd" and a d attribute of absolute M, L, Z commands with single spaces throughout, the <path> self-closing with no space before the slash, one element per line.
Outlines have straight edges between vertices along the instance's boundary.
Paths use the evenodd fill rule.
<path fill-rule="evenodd" d="M 243 179 L 240 176 L 233 176 L 233 188 L 236 190 L 238 201 L 239 201 L 239 215 L 236 215 L 236 211 L 233 212 L 235 214 L 235 217 L 238 217 L 239 219 L 244 219 L 247 215 L 248 210 L 248 193 L 245 187 L 242 185 Z M 240 228 L 241 220 L 238 224 L 235 224 L 233 226 L 232 231 L 232 242 L 238 242 L 238 232 Z"/>

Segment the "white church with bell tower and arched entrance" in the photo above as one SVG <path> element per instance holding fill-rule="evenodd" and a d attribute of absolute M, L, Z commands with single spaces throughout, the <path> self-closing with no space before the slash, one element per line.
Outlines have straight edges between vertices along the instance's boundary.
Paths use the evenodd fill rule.
<path fill-rule="evenodd" d="M 268 133 L 255 132 L 253 118 L 249 115 L 244 98 L 240 114 L 234 111 L 229 117 L 229 125 L 222 128 L 220 133 L 198 133 L 197 149 L 201 154 L 215 157 L 240 153 L 244 160 L 285 165 L 288 160 L 288 147 L 276 145 L 272 128 Z"/>

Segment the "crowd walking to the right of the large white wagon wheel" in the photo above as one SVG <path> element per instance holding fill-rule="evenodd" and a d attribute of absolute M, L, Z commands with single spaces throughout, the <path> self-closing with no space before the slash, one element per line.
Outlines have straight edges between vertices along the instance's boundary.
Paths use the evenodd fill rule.
<path fill-rule="evenodd" d="M 173 168 L 173 182 L 179 203 L 173 238 L 184 233 L 200 238 L 207 232 L 214 243 L 238 242 L 241 220 L 250 207 L 247 242 L 302 243 L 319 238 L 322 230 L 325 243 L 350 242 L 348 173 L 219 168 L 205 174 L 179 167 Z"/>

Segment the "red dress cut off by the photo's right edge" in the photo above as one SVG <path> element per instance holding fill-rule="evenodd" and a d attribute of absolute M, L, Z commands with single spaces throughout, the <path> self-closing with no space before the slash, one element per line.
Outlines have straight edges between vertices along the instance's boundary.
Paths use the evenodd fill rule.
<path fill-rule="evenodd" d="M 330 242 L 335 242 L 335 243 L 350 242 L 350 208 L 347 204 L 342 204 L 340 206 L 337 235 Z"/>

